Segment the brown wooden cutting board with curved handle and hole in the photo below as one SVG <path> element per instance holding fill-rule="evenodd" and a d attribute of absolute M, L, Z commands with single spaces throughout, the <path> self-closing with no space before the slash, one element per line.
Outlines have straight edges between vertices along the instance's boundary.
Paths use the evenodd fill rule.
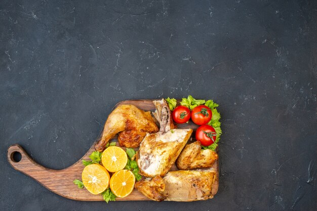
<path fill-rule="evenodd" d="M 153 100 L 145 99 L 145 100 L 125 100 L 117 103 L 114 108 L 121 104 L 133 104 L 141 110 L 145 111 L 154 111 L 155 107 L 152 103 Z M 191 128 L 194 130 L 197 128 L 197 125 L 193 124 L 189 121 L 188 124 L 180 124 L 178 128 Z M 194 132 L 192 137 L 194 137 Z M 97 139 L 97 141 L 99 138 Z M 113 140 L 116 141 L 116 137 Z M 70 198 L 73 200 L 80 200 L 80 201 L 103 201 L 101 194 L 93 195 L 85 188 L 79 189 L 76 185 L 73 184 L 74 179 L 82 178 L 82 171 L 84 169 L 84 165 L 82 160 L 90 160 L 89 155 L 95 151 L 94 149 L 95 143 L 90 147 L 88 152 L 77 161 L 72 166 L 62 169 L 62 170 L 53 170 L 45 168 L 39 164 L 37 164 L 26 152 L 25 150 L 18 144 L 11 145 L 8 148 L 8 161 L 11 166 L 28 175 L 29 177 L 33 178 L 44 187 L 48 188 L 49 190 L 53 191 L 54 193 L 61 195 L 65 198 Z M 118 143 L 117 143 L 118 145 Z M 124 147 L 123 147 L 124 148 Z M 19 162 L 14 160 L 13 154 L 16 152 L 20 152 L 22 155 L 22 159 Z M 217 171 L 217 179 L 213 184 L 213 195 L 215 195 L 218 191 L 218 178 L 219 178 L 219 171 L 218 171 L 218 161 L 215 162 L 213 168 Z M 177 167 L 174 166 L 171 168 L 170 171 L 177 171 Z M 125 197 L 125 198 L 116 198 L 116 201 L 129 201 L 129 200 L 149 200 L 145 197 L 142 193 L 134 189 L 132 193 Z"/>

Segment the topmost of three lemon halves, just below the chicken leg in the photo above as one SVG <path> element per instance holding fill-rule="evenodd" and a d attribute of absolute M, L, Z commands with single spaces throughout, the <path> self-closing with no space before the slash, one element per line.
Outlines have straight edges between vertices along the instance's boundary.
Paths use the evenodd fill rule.
<path fill-rule="evenodd" d="M 101 162 L 109 172 L 117 172 L 126 167 L 128 156 L 122 148 L 109 146 L 102 152 Z"/>

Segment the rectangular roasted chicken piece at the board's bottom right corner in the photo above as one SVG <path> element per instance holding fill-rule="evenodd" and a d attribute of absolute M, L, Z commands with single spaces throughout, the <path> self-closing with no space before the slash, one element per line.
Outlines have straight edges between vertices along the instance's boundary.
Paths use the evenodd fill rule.
<path fill-rule="evenodd" d="M 163 177 L 168 201 L 197 201 L 213 198 L 213 184 L 217 180 L 211 171 L 175 171 Z"/>

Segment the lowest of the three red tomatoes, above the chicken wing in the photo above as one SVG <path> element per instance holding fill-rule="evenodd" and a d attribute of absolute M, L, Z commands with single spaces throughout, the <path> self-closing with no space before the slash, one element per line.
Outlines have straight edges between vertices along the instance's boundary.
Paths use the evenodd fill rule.
<path fill-rule="evenodd" d="M 202 125 L 196 130 L 196 140 L 200 141 L 203 146 L 209 146 L 216 140 L 217 133 L 210 125 Z"/>

